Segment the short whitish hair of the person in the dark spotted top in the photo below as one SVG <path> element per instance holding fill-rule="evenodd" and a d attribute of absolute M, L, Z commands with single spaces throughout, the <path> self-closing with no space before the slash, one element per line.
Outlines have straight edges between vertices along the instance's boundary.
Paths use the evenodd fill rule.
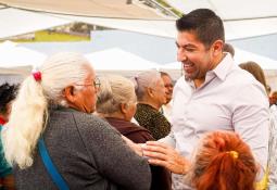
<path fill-rule="evenodd" d="M 134 79 L 138 100 L 143 100 L 147 93 L 147 88 L 155 87 L 159 80 L 161 80 L 161 74 L 158 71 L 139 73 Z"/>

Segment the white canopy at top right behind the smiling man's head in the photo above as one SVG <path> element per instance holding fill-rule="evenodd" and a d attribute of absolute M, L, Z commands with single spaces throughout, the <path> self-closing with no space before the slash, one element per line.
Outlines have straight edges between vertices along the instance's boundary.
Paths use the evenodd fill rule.
<path fill-rule="evenodd" d="M 182 13 L 207 8 L 224 20 L 226 40 L 277 33 L 276 0 L 166 0 Z"/>

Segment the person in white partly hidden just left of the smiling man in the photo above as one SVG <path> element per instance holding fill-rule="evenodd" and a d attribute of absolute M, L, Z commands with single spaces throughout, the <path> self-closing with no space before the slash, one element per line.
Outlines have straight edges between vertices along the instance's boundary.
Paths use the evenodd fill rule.
<path fill-rule="evenodd" d="M 167 118 L 168 122 L 172 122 L 172 96 L 173 96 L 173 80 L 169 74 L 165 72 L 160 72 L 161 77 L 164 81 L 165 87 L 165 96 L 166 96 L 166 103 L 163 104 L 161 112 Z"/>

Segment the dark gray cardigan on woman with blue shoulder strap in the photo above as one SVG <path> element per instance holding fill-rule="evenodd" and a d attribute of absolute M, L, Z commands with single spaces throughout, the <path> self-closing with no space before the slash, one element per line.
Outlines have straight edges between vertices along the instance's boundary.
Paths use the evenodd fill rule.
<path fill-rule="evenodd" d="M 148 162 L 102 119 L 70 109 L 52 111 L 43 132 L 48 152 L 71 189 L 148 190 Z M 38 151 L 34 164 L 14 168 L 17 189 L 56 189 Z"/>

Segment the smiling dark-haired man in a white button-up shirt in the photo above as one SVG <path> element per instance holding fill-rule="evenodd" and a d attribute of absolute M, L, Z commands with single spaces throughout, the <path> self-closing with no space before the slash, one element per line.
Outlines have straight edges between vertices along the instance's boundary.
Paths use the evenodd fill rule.
<path fill-rule="evenodd" d="M 143 155 L 150 157 L 151 164 L 185 175 L 203 135 L 235 131 L 250 145 L 263 174 L 269 126 L 264 87 L 223 52 L 224 26 L 214 12 L 194 10 L 179 18 L 176 26 L 177 58 L 185 77 L 174 89 L 172 131 L 160 141 L 175 148 L 182 159 L 161 142 L 148 142 Z M 184 185 L 182 178 L 174 178 L 174 189 L 192 189 Z"/>

